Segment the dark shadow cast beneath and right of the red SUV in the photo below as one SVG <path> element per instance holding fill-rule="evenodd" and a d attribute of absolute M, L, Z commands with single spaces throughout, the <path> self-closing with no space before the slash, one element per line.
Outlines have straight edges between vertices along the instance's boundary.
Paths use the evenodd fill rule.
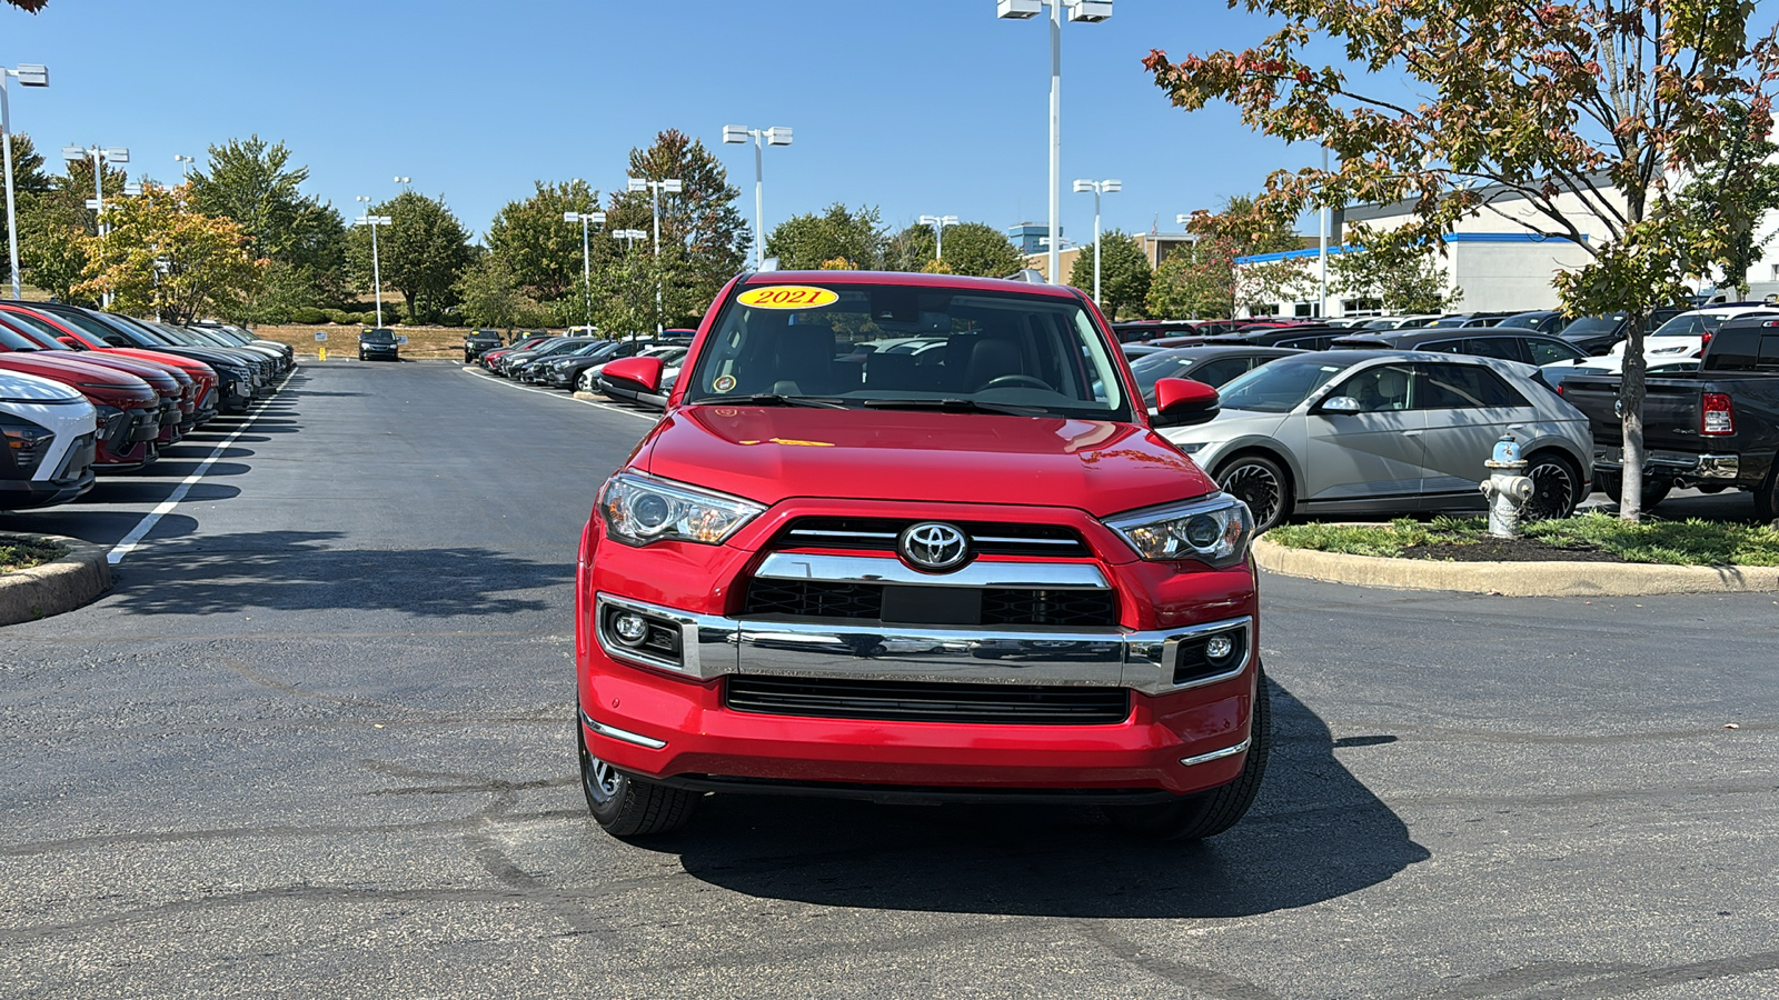
<path fill-rule="evenodd" d="M 873 806 L 712 795 L 644 847 L 713 886 L 865 909 L 1012 916 L 1251 916 L 1388 881 L 1430 854 L 1334 758 L 1329 728 L 1274 685 L 1254 810 L 1201 843 L 1149 843 L 1085 806 Z M 1356 744 L 1356 746 L 1379 746 Z"/>

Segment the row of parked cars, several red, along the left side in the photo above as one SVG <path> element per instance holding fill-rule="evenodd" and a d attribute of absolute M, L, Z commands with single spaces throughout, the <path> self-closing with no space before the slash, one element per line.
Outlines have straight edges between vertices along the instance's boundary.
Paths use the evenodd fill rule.
<path fill-rule="evenodd" d="M 155 463 L 295 365 L 229 324 L 173 326 L 64 302 L 0 302 L 0 509 L 66 504 Z"/>

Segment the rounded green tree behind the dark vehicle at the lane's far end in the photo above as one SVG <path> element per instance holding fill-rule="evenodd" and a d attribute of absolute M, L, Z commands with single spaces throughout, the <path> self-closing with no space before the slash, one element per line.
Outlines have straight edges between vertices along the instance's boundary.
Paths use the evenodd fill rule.
<path fill-rule="evenodd" d="M 388 226 L 377 228 L 375 263 L 382 270 L 382 285 L 402 295 L 411 320 L 438 319 L 455 302 L 457 278 L 475 262 L 470 233 L 443 198 L 413 190 L 377 205 L 370 214 L 390 217 Z M 347 246 L 352 276 L 359 288 L 370 290 L 370 226 L 354 226 Z"/>

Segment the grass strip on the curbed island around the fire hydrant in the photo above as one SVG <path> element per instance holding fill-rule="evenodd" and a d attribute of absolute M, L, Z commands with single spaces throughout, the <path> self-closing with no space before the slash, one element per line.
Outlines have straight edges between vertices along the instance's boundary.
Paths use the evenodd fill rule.
<path fill-rule="evenodd" d="M 1525 527 L 1553 548 L 1598 548 L 1626 562 L 1667 566 L 1779 566 L 1779 530 L 1688 518 L 1685 521 L 1621 521 L 1610 514 L 1582 514 Z M 1283 525 L 1267 539 L 1316 552 L 1398 557 L 1420 544 L 1475 544 L 1487 537 L 1484 518 L 1400 518 L 1388 525 Z"/>

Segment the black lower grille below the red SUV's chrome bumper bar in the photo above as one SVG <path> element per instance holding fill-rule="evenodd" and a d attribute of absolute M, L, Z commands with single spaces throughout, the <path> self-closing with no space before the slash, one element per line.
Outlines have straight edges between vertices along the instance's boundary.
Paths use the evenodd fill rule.
<path fill-rule="evenodd" d="M 1130 717 L 1123 687 L 857 681 L 737 674 L 724 685 L 731 712 L 808 719 L 1115 726 Z"/>

